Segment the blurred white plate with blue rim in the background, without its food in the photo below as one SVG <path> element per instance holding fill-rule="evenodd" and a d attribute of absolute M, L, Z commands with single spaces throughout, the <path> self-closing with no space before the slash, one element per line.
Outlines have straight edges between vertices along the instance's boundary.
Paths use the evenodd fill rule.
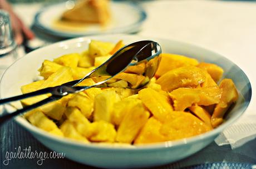
<path fill-rule="evenodd" d="M 34 25 L 46 33 L 72 38 L 82 35 L 137 32 L 146 19 L 146 12 L 135 3 L 110 2 L 111 21 L 105 27 L 90 24 L 76 29 L 61 29 L 55 22 L 66 11 L 66 3 L 42 8 L 35 16 Z"/>

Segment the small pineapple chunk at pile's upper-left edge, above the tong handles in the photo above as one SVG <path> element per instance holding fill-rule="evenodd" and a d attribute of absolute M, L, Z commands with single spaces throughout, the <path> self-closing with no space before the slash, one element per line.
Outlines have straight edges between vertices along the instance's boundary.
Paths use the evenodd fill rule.
<path fill-rule="evenodd" d="M 50 60 L 45 60 L 38 71 L 40 71 L 40 76 L 47 79 L 51 74 L 55 73 L 61 67 L 62 65 L 60 64 L 51 62 Z"/>

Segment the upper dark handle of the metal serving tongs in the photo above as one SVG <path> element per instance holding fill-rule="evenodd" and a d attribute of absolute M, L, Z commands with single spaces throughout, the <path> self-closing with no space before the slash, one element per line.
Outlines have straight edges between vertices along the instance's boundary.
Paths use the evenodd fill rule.
<path fill-rule="evenodd" d="M 55 88 L 55 87 L 53 87 L 53 88 Z M 52 93 L 52 89 L 53 88 L 45 88 L 45 89 L 33 91 L 31 93 L 22 94 L 22 95 L 18 95 L 18 96 L 13 96 L 11 98 L 0 99 L 0 105 L 9 103 L 11 101 L 17 101 L 17 100 L 22 100 L 22 99 L 26 99 L 26 98 L 31 98 L 33 96 L 38 96 L 38 95 L 42 95 L 42 94 Z"/>

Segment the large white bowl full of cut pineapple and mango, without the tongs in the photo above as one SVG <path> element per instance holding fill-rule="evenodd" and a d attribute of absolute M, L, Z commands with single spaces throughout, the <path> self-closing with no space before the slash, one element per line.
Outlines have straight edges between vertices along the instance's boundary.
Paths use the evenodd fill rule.
<path fill-rule="evenodd" d="M 136 35 L 100 35 L 58 42 L 17 60 L 4 73 L 1 98 L 80 79 Z M 15 121 L 67 158 L 103 168 L 164 165 L 209 145 L 247 109 L 252 89 L 227 58 L 168 39 L 152 38 L 163 53 L 155 76 L 145 62 L 106 82 L 28 111 Z M 17 78 L 18 77 L 18 78 Z M 146 81 L 142 88 L 135 88 Z M 88 78 L 83 85 L 93 85 Z M 49 95 L 21 100 L 21 109 Z M 7 107 L 8 111 L 13 111 Z"/>

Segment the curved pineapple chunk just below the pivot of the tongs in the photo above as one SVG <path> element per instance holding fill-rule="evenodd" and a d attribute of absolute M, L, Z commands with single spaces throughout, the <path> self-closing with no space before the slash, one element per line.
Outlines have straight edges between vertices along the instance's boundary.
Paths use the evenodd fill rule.
<path fill-rule="evenodd" d="M 93 101 L 82 93 L 75 94 L 67 103 L 68 106 L 77 107 L 88 119 L 93 111 Z"/>

